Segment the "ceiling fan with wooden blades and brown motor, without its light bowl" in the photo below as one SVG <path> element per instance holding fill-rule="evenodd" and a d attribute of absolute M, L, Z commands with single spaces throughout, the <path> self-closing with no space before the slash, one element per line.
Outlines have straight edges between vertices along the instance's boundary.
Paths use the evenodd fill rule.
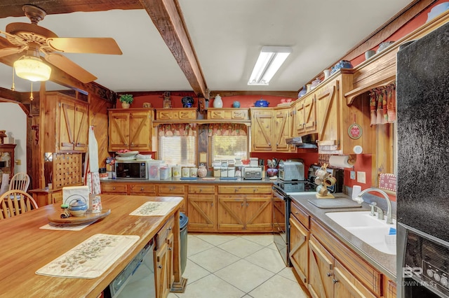
<path fill-rule="evenodd" d="M 5 36 L 0 36 L 0 45 L 3 45 L 0 49 L 0 57 L 15 55 L 26 50 L 25 56 L 20 59 L 26 57 L 42 61 L 40 53 L 43 53 L 43 59 L 48 64 L 58 67 L 82 83 L 89 83 L 97 77 L 59 52 L 122 54 L 113 38 L 61 38 L 37 24 L 46 16 L 45 10 L 29 4 L 22 6 L 22 9 L 31 20 L 31 24 L 13 22 L 6 25 L 5 31 L 0 30 L 0 34 Z"/>

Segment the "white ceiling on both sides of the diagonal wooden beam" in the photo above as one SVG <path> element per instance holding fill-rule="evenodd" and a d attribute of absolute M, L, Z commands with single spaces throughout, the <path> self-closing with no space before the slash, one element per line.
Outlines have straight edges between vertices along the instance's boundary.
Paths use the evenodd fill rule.
<path fill-rule="evenodd" d="M 299 90 L 410 0 L 178 0 L 210 90 Z M 0 29 L 27 17 L 0 19 Z M 192 90 L 145 10 L 47 15 L 39 25 L 60 37 L 112 37 L 123 55 L 65 54 L 115 92 Z M 263 45 L 293 48 L 269 86 L 248 86 Z M 0 87 L 12 69 L 0 64 Z M 29 81 L 15 78 L 19 92 Z M 34 90 L 39 88 L 34 83 Z M 51 82 L 47 90 L 65 89 Z"/>

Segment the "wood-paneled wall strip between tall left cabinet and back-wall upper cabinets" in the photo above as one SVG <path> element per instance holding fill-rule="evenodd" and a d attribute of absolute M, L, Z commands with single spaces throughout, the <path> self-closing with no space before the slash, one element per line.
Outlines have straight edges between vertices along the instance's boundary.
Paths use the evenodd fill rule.
<path fill-rule="evenodd" d="M 107 136 L 107 109 L 114 108 L 114 104 L 109 101 L 105 101 L 97 97 L 95 94 L 91 94 L 88 97 L 89 101 L 89 125 L 93 126 L 95 132 L 95 139 L 98 143 L 98 166 L 100 168 L 105 167 L 106 157 L 109 157 L 107 151 L 108 136 Z"/>

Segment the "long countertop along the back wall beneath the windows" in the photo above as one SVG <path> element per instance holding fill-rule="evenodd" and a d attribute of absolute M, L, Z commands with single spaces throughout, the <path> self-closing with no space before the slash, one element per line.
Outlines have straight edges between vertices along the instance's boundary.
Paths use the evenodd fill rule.
<path fill-rule="evenodd" d="M 196 180 L 181 180 L 180 178 L 168 178 L 164 180 L 142 180 L 142 179 L 105 179 L 100 180 L 101 183 L 220 183 L 220 184 L 233 184 L 233 183 L 246 183 L 246 184 L 260 184 L 260 183 L 274 183 L 277 181 L 277 179 L 269 179 L 269 178 L 262 178 L 262 179 L 243 179 L 238 178 L 236 180 L 220 180 L 220 177 L 207 177 L 207 178 L 215 178 L 215 180 L 203 180 L 203 178 L 198 178 Z"/>

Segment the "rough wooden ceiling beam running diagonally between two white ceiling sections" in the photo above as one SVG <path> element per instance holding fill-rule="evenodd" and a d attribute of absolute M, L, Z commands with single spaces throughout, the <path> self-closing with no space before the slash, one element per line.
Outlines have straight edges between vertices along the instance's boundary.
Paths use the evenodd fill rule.
<path fill-rule="evenodd" d="M 185 74 L 195 94 L 206 94 L 206 80 L 177 0 L 139 0 Z"/>

